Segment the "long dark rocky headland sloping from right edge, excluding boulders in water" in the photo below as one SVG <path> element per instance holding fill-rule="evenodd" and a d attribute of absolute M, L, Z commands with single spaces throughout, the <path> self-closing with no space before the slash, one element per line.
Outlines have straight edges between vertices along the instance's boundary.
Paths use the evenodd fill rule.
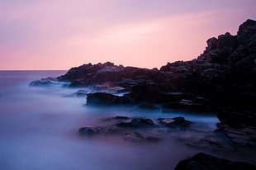
<path fill-rule="evenodd" d="M 255 145 L 255 122 L 250 121 L 256 111 L 256 21 L 245 21 L 237 35 L 225 33 L 206 43 L 197 59 L 168 63 L 159 70 L 110 62 L 83 64 L 58 78 L 42 78 L 30 85 L 50 86 L 58 81 L 69 82 L 69 87 L 92 87 L 98 92 L 77 93 L 87 97 L 88 106 L 135 104 L 163 106 L 164 111 L 231 111 L 219 114 L 220 131 L 234 144 Z M 122 97 L 110 94 L 116 92 L 129 93 Z"/>

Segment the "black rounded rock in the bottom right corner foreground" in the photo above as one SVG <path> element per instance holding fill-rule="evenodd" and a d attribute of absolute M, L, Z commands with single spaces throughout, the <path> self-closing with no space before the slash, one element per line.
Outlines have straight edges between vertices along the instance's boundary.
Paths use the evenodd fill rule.
<path fill-rule="evenodd" d="M 187 158 L 178 163 L 174 170 L 255 170 L 253 164 L 232 162 L 224 158 L 216 158 L 206 153 L 197 153 L 192 158 Z"/>

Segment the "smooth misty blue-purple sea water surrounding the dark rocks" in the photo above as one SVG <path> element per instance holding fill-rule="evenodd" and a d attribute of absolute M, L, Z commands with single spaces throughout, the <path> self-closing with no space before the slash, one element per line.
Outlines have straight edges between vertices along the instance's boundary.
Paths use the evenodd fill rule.
<path fill-rule="evenodd" d="M 32 80 L 56 77 L 66 71 L 0 71 L 0 169 L 173 169 L 179 160 L 198 152 L 221 158 L 254 162 L 246 149 L 223 151 L 197 148 L 188 143 L 215 135 L 216 116 L 183 111 L 145 111 L 136 106 L 99 108 L 85 106 L 78 89 L 57 86 L 30 87 Z M 145 116 L 154 120 L 184 116 L 195 123 L 187 130 L 145 130 L 162 140 L 131 142 L 120 135 L 81 138 L 85 125 L 105 125 L 111 116 Z M 141 130 L 140 130 L 141 131 Z M 142 130 L 143 131 L 143 130 Z"/>

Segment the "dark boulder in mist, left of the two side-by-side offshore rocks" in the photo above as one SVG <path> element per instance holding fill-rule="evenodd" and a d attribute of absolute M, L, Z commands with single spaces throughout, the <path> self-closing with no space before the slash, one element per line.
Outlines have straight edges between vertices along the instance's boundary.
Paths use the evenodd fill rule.
<path fill-rule="evenodd" d="M 154 121 L 147 119 L 145 117 L 132 117 L 130 120 L 121 121 L 116 124 L 121 127 L 137 127 L 137 128 L 147 128 L 147 127 L 155 127 Z"/>

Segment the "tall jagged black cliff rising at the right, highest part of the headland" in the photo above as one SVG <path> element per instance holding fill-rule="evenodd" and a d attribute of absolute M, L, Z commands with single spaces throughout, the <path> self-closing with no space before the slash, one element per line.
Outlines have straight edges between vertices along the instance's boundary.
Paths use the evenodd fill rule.
<path fill-rule="evenodd" d="M 160 68 L 169 73 L 182 92 L 206 97 L 207 106 L 254 109 L 256 99 L 256 21 L 239 26 L 238 35 L 207 40 L 203 54 L 191 61 L 177 61 Z M 179 89 L 179 90 L 180 90 Z"/>

